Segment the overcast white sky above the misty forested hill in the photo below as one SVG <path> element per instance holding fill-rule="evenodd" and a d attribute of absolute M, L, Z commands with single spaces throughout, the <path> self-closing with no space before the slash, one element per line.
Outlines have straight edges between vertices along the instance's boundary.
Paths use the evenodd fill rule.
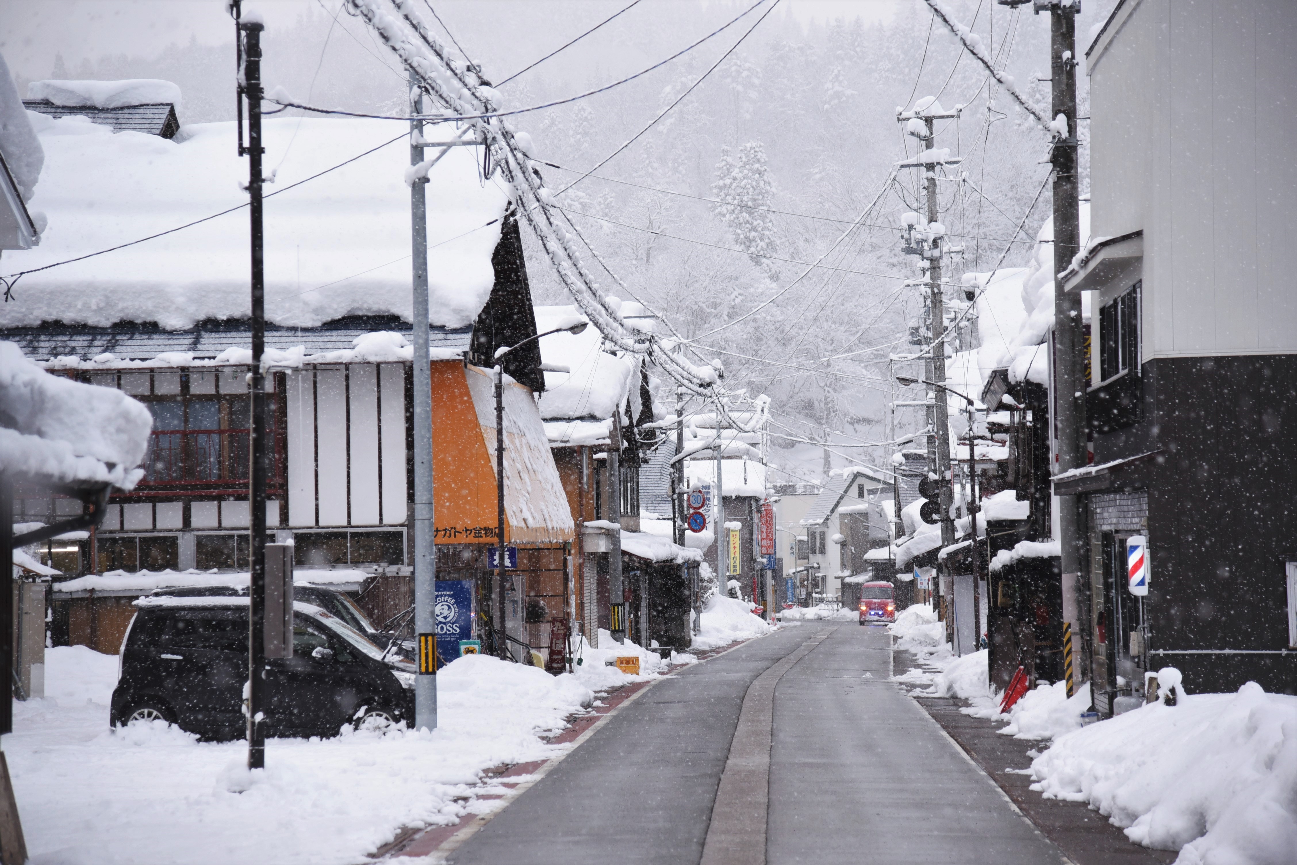
<path fill-rule="evenodd" d="M 589 0 L 591 23 L 611 14 L 628 0 Z M 699 0 L 700 5 L 703 0 Z M 800 19 L 860 16 L 866 21 L 888 18 L 905 0 L 783 0 Z M 502 16 L 519 4 L 543 0 L 442 0 L 438 12 L 447 25 L 468 14 Z M 652 3 L 652 0 L 648 0 Z M 331 13 L 340 0 L 250 0 L 266 16 L 267 27 L 289 25 L 323 4 Z M 102 54 L 148 57 L 169 44 L 218 44 L 232 38 L 224 0 L 0 0 L 0 53 L 14 75 L 45 78 L 62 52 L 69 69 L 82 58 Z M 581 25 L 563 21 L 555 26 L 559 45 L 581 31 Z"/>

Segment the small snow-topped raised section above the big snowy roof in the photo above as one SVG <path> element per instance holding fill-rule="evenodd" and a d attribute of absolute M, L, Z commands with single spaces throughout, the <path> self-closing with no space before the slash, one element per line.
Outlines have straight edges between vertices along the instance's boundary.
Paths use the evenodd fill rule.
<path fill-rule="evenodd" d="M 79 115 L 114 132 L 144 132 L 171 139 L 180 131 L 175 108 L 180 88 L 171 82 L 136 78 L 121 82 L 32 82 L 23 108 L 54 119 Z"/>

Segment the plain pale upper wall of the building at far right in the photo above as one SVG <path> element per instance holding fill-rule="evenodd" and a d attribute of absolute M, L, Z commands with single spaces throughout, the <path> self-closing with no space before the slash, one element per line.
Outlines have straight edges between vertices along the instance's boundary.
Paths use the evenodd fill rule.
<path fill-rule="evenodd" d="M 1087 61 L 1092 233 L 1144 231 L 1144 359 L 1297 350 L 1291 0 L 1126 0 Z"/>

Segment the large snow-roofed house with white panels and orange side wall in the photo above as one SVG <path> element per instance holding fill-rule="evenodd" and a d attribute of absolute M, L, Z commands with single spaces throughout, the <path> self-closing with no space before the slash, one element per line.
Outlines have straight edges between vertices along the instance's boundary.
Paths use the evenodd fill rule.
<path fill-rule="evenodd" d="M 23 279 L 0 310 L 0 338 L 52 372 L 121 389 L 153 415 L 144 479 L 112 501 L 65 571 L 246 568 L 250 331 L 236 184 L 246 166 L 233 124 L 185 127 L 176 141 L 84 128 L 75 118 L 48 123 L 39 202 L 61 231 L 18 266 L 57 266 Z M 62 135 L 67 123 L 79 124 L 77 135 Z M 409 130 L 265 126 L 283 184 L 266 201 L 267 524 L 293 539 L 298 565 L 374 575 L 358 600 L 383 622 L 412 600 L 410 196 L 407 152 L 397 144 Z M 505 451 L 495 464 L 488 367 L 498 348 L 537 331 L 518 222 L 505 193 L 479 175 L 473 149 L 457 148 L 429 176 L 438 580 L 490 584 L 503 471 L 505 541 L 518 549 L 505 586 L 508 633 L 543 646 L 547 635 L 525 624 L 536 610 L 546 621 L 567 615 L 573 523 L 537 411 L 545 380 L 534 344 L 503 362 Z M 39 520 L 64 503 L 21 495 L 16 507 Z M 482 622 L 498 603 L 477 594 Z"/>

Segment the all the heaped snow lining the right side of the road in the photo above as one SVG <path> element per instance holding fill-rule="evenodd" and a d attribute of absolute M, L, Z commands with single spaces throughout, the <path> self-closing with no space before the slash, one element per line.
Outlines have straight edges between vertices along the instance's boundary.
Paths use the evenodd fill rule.
<path fill-rule="evenodd" d="M 1178 865 L 1297 862 L 1297 696 L 1248 682 L 1236 694 L 1179 694 L 1082 726 L 1089 686 L 1069 698 L 1041 683 L 1001 715 L 987 652 L 956 658 L 926 606 L 898 616 L 895 647 L 920 667 L 896 677 L 910 694 L 957 696 L 961 712 L 1006 722 L 999 733 L 1052 741 L 1031 764 L 1032 790 L 1087 803 L 1135 843 L 1178 849 Z M 1166 676 L 1162 677 L 1167 678 Z"/>

